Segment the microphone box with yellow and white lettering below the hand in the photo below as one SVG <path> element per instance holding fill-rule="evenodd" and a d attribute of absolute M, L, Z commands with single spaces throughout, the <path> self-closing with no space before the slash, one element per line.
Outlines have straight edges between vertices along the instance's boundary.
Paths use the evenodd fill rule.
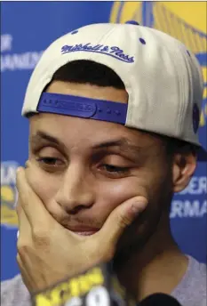
<path fill-rule="evenodd" d="M 136 306 L 113 275 L 110 263 L 103 263 L 74 278 L 36 293 L 33 306 Z"/>

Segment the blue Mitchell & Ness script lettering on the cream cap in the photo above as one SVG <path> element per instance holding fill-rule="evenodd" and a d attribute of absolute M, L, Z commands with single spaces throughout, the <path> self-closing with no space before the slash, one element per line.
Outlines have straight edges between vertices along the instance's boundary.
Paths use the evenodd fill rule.
<path fill-rule="evenodd" d="M 88 44 L 75 44 L 75 45 L 63 45 L 61 48 L 61 53 L 65 54 L 68 52 L 77 52 L 77 51 L 84 51 L 84 52 L 98 52 L 102 54 L 106 54 L 109 56 L 114 57 L 117 60 L 122 60 L 127 63 L 134 62 L 133 56 L 129 56 L 123 52 L 118 46 L 109 47 L 108 45 L 103 44 L 95 44 L 92 45 L 91 43 Z"/>

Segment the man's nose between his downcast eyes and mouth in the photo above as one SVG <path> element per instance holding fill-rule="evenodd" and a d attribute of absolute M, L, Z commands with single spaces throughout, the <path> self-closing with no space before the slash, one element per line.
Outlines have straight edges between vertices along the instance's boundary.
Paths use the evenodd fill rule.
<path fill-rule="evenodd" d="M 87 180 L 87 174 L 79 165 L 70 165 L 61 181 L 56 194 L 56 202 L 67 213 L 75 214 L 94 204 L 95 194 L 92 182 Z"/>

